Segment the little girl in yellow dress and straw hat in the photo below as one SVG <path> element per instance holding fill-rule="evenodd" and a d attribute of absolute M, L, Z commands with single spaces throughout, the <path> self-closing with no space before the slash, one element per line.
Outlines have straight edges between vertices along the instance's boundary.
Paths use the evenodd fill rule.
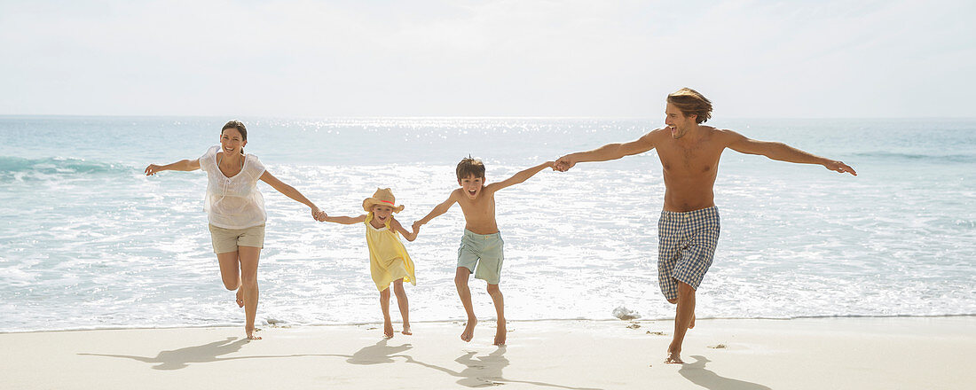
<path fill-rule="evenodd" d="M 414 261 L 407 254 L 407 249 L 400 242 L 399 234 L 407 241 L 417 238 L 417 230 L 407 232 L 400 222 L 393 217 L 393 213 L 403 211 L 403 205 L 394 206 L 396 199 L 389 188 L 377 188 L 371 198 L 363 201 L 363 210 L 367 215 L 359 216 L 325 216 L 327 222 L 353 224 L 365 222 L 366 245 L 369 247 L 369 268 L 380 291 L 380 308 L 383 309 L 383 333 L 386 337 L 393 336 L 393 324 L 389 320 L 389 284 L 393 283 L 396 293 L 396 303 L 400 306 L 400 316 L 403 317 L 403 334 L 413 334 L 410 331 L 409 304 L 407 292 L 403 291 L 403 282 L 417 286 L 414 277 Z M 399 234 L 397 234 L 399 233 Z"/>

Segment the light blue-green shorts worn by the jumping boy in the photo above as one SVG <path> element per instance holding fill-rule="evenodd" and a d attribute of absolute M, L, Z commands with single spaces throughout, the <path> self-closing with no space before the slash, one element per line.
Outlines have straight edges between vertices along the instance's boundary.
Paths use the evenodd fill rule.
<path fill-rule="evenodd" d="M 505 259 L 502 233 L 475 234 L 465 229 L 458 248 L 458 266 L 468 268 L 475 279 L 497 285 L 502 280 L 502 261 Z"/>

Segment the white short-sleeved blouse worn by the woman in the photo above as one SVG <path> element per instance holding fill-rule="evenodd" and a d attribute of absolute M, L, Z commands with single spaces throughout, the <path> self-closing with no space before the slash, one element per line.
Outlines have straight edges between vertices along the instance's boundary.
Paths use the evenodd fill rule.
<path fill-rule="evenodd" d="M 258 179 L 264 175 L 264 164 L 253 154 L 244 158 L 244 168 L 233 177 L 224 176 L 217 167 L 217 152 L 213 146 L 200 157 L 200 169 L 207 173 L 207 197 L 203 210 L 210 224 L 224 229 L 246 229 L 264 224 L 264 197 L 258 191 Z"/>

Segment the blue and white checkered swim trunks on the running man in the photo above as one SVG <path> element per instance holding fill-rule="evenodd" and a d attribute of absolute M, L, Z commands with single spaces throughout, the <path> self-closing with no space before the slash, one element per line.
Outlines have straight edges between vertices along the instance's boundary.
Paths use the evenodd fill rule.
<path fill-rule="evenodd" d="M 658 284 L 665 298 L 677 298 L 677 282 L 698 290 L 718 243 L 718 208 L 661 212 L 658 220 Z"/>

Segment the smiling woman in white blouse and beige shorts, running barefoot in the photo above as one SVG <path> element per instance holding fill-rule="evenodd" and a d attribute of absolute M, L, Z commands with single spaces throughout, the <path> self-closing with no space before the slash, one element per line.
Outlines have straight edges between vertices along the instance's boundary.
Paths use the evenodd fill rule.
<path fill-rule="evenodd" d="M 204 210 L 210 221 L 214 253 L 221 264 L 221 278 L 227 290 L 237 291 L 237 305 L 244 307 L 244 331 L 256 340 L 254 319 L 258 313 L 258 258 L 264 248 L 264 197 L 258 192 L 258 180 L 271 185 L 285 196 L 311 208 L 315 220 L 322 213 L 291 185 L 264 170 L 253 154 L 244 154 L 247 129 L 239 121 L 230 121 L 221 129 L 221 144 L 207 150 L 196 160 L 182 160 L 169 165 L 151 164 L 145 176 L 162 171 L 196 171 L 207 173 L 207 197 Z"/>

